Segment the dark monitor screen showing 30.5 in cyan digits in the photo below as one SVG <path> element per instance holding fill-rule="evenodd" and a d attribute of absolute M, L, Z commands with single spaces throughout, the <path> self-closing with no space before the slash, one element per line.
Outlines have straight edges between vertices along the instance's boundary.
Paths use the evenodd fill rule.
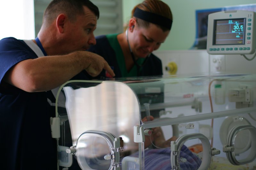
<path fill-rule="evenodd" d="M 246 18 L 214 20 L 213 45 L 245 43 Z"/>

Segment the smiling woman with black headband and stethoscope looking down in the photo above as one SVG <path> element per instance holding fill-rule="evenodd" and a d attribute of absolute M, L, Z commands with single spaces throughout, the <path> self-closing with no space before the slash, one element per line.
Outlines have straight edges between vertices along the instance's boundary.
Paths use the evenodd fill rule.
<path fill-rule="evenodd" d="M 115 77 L 162 75 L 162 63 L 152 54 L 168 36 L 172 12 L 160 0 L 145 0 L 132 10 L 124 33 L 96 37 L 89 51 L 101 55 L 115 72 Z M 101 72 L 98 78 L 111 77 Z"/>

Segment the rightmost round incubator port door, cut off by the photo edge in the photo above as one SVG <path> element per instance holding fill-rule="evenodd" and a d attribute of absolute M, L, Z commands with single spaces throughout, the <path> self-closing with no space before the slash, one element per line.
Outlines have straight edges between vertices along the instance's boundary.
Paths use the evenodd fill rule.
<path fill-rule="evenodd" d="M 250 151 L 245 158 L 237 159 L 236 158 L 236 138 L 238 133 L 246 133 L 249 132 L 250 137 L 248 139 L 244 138 L 248 144 L 250 144 L 251 148 Z M 242 126 L 235 126 L 233 127 L 227 136 L 226 145 L 223 146 L 223 152 L 226 152 L 227 158 L 229 162 L 233 165 L 244 165 L 252 162 L 256 158 L 256 128 L 252 125 L 242 125 Z"/>

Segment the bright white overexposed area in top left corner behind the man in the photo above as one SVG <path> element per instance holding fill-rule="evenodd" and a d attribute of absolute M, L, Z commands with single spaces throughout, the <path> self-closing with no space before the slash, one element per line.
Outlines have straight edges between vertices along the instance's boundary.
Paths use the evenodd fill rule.
<path fill-rule="evenodd" d="M 0 39 L 34 39 L 34 0 L 1 0 L 0 22 Z"/>

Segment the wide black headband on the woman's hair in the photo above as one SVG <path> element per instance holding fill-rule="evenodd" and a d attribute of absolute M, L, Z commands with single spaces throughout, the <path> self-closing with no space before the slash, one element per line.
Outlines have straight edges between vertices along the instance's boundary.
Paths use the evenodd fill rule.
<path fill-rule="evenodd" d="M 152 12 L 143 11 L 140 8 L 135 9 L 133 16 L 159 26 L 164 26 L 169 30 L 171 30 L 171 27 L 172 27 L 171 19 L 152 13 Z"/>

